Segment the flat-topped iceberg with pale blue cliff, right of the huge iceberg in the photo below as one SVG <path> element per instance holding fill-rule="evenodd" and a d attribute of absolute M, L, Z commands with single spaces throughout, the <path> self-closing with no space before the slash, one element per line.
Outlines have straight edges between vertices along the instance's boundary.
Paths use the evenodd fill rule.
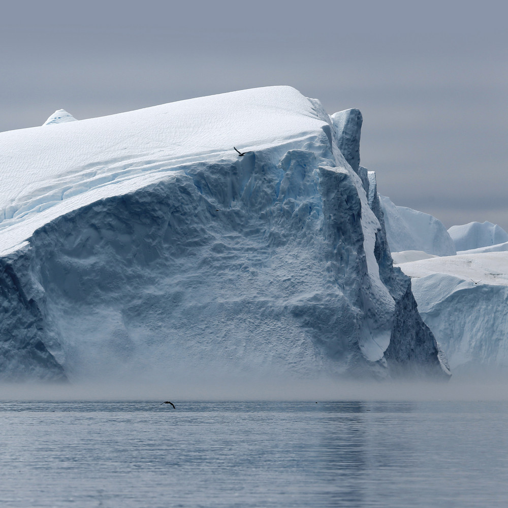
<path fill-rule="evenodd" d="M 508 367 L 508 253 L 403 263 L 425 323 L 454 372 Z"/>

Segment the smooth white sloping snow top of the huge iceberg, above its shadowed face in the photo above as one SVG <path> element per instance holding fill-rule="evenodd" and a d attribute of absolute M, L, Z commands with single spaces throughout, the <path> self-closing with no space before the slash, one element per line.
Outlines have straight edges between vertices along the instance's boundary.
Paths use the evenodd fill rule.
<path fill-rule="evenodd" d="M 57 115 L 58 116 L 58 115 Z M 61 115 L 60 115 L 61 116 Z M 100 118 L 0 133 L 0 253 L 55 217 L 131 192 L 176 166 L 281 156 L 327 125 L 290 86 L 254 88 Z"/>

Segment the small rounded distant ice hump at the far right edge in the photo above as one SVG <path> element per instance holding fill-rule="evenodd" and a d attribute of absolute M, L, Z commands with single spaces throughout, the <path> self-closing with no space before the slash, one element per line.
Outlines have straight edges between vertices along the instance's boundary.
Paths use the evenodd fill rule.
<path fill-rule="evenodd" d="M 490 247 L 508 242 L 508 233 L 497 224 L 488 221 L 452 226 L 448 233 L 454 241 L 457 251 Z"/>

